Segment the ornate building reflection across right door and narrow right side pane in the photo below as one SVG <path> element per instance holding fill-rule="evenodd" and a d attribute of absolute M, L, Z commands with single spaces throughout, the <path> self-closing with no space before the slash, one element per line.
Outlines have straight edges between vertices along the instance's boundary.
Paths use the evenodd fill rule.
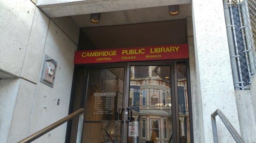
<path fill-rule="evenodd" d="M 186 67 L 185 67 L 186 69 Z M 178 73 L 179 74 L 179 73 Z M 178 75 L 180 137 L 189 143 L 189 114 L 184 78 Z M 128 137 L 130 143 L 172 143 L 172 98 L 169 66 L 132 66 L 129 105 L 138 121 L 139 137 Z"/>

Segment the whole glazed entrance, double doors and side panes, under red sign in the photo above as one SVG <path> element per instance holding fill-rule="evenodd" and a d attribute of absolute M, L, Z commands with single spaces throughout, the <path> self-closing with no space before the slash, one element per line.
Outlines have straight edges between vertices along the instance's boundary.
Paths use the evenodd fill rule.
<path fill-rule="evenodd" d="M 79 69 L 73 109 L 85 109 L 82 143 L 193 143 L 187 62 Z M 76 143 L 77 125 L 78 118 L 70 143 Z"/>

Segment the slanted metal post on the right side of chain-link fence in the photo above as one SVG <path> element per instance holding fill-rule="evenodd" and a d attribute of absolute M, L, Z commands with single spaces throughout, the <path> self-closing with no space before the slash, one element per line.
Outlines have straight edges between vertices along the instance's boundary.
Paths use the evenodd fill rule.
<path fill-rule="evenodd" d="M 246 36 L 246 47 L 247 47 L 247 50 L 249 50 L 248 56 L 249 56 L 249 64 L 250 64 L 250 73 L 251 73 L 251 75 L 253 75 L 255 72 L 254 72 L 254 65 L 253 65 L 253 53 L 251 51 L 252 43 L 249 40 L 249 38 L 250 38 L 250 34 L 249 34 L 250 22 L 246 22 L 247 18 L 249 18 L 249 16 L 248 16 L 248 11 L 245 9 L 245 5 L 246 5 L 246 0 L 242 2 L 241 10 L 242 10 L 242 15 L 243 15 L 243 23 L 245 26 L 244 32 L 245 32 L 245 36 Z"/>

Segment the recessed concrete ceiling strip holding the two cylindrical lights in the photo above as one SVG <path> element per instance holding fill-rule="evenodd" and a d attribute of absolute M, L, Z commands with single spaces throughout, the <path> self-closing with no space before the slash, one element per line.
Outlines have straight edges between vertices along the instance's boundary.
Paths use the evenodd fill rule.
<path fill-rule="evenodd" d="M 90 22 L 90 14 L 71 16 L 82 27 L 96 27 L 108 25 L 125 25 L 145 22 L 186 19 L 192 13 L 191 4 L 180 5 L 180 13 L 173 16 L 169 14 L 168 6 L 131 9 L 125 11 L 104 12 L 100 15 L 99 23 Z"/>

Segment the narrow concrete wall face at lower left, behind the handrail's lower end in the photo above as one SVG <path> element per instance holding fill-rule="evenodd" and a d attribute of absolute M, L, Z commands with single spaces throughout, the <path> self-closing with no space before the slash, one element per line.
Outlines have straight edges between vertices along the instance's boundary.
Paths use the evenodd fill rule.
<path fill-rule="evenodd" d="M 12 120 L 10 120 L 12 122 L 10 124 L 7 143 L 16 143 L 27 136 L 36 91 L 36 84 L 24 79 L 15 80 L 19 80 L 20 85 L 18 90 L 16 90 L 17 95 L 14 101 L 15 106 L 13 106 Z"/>

